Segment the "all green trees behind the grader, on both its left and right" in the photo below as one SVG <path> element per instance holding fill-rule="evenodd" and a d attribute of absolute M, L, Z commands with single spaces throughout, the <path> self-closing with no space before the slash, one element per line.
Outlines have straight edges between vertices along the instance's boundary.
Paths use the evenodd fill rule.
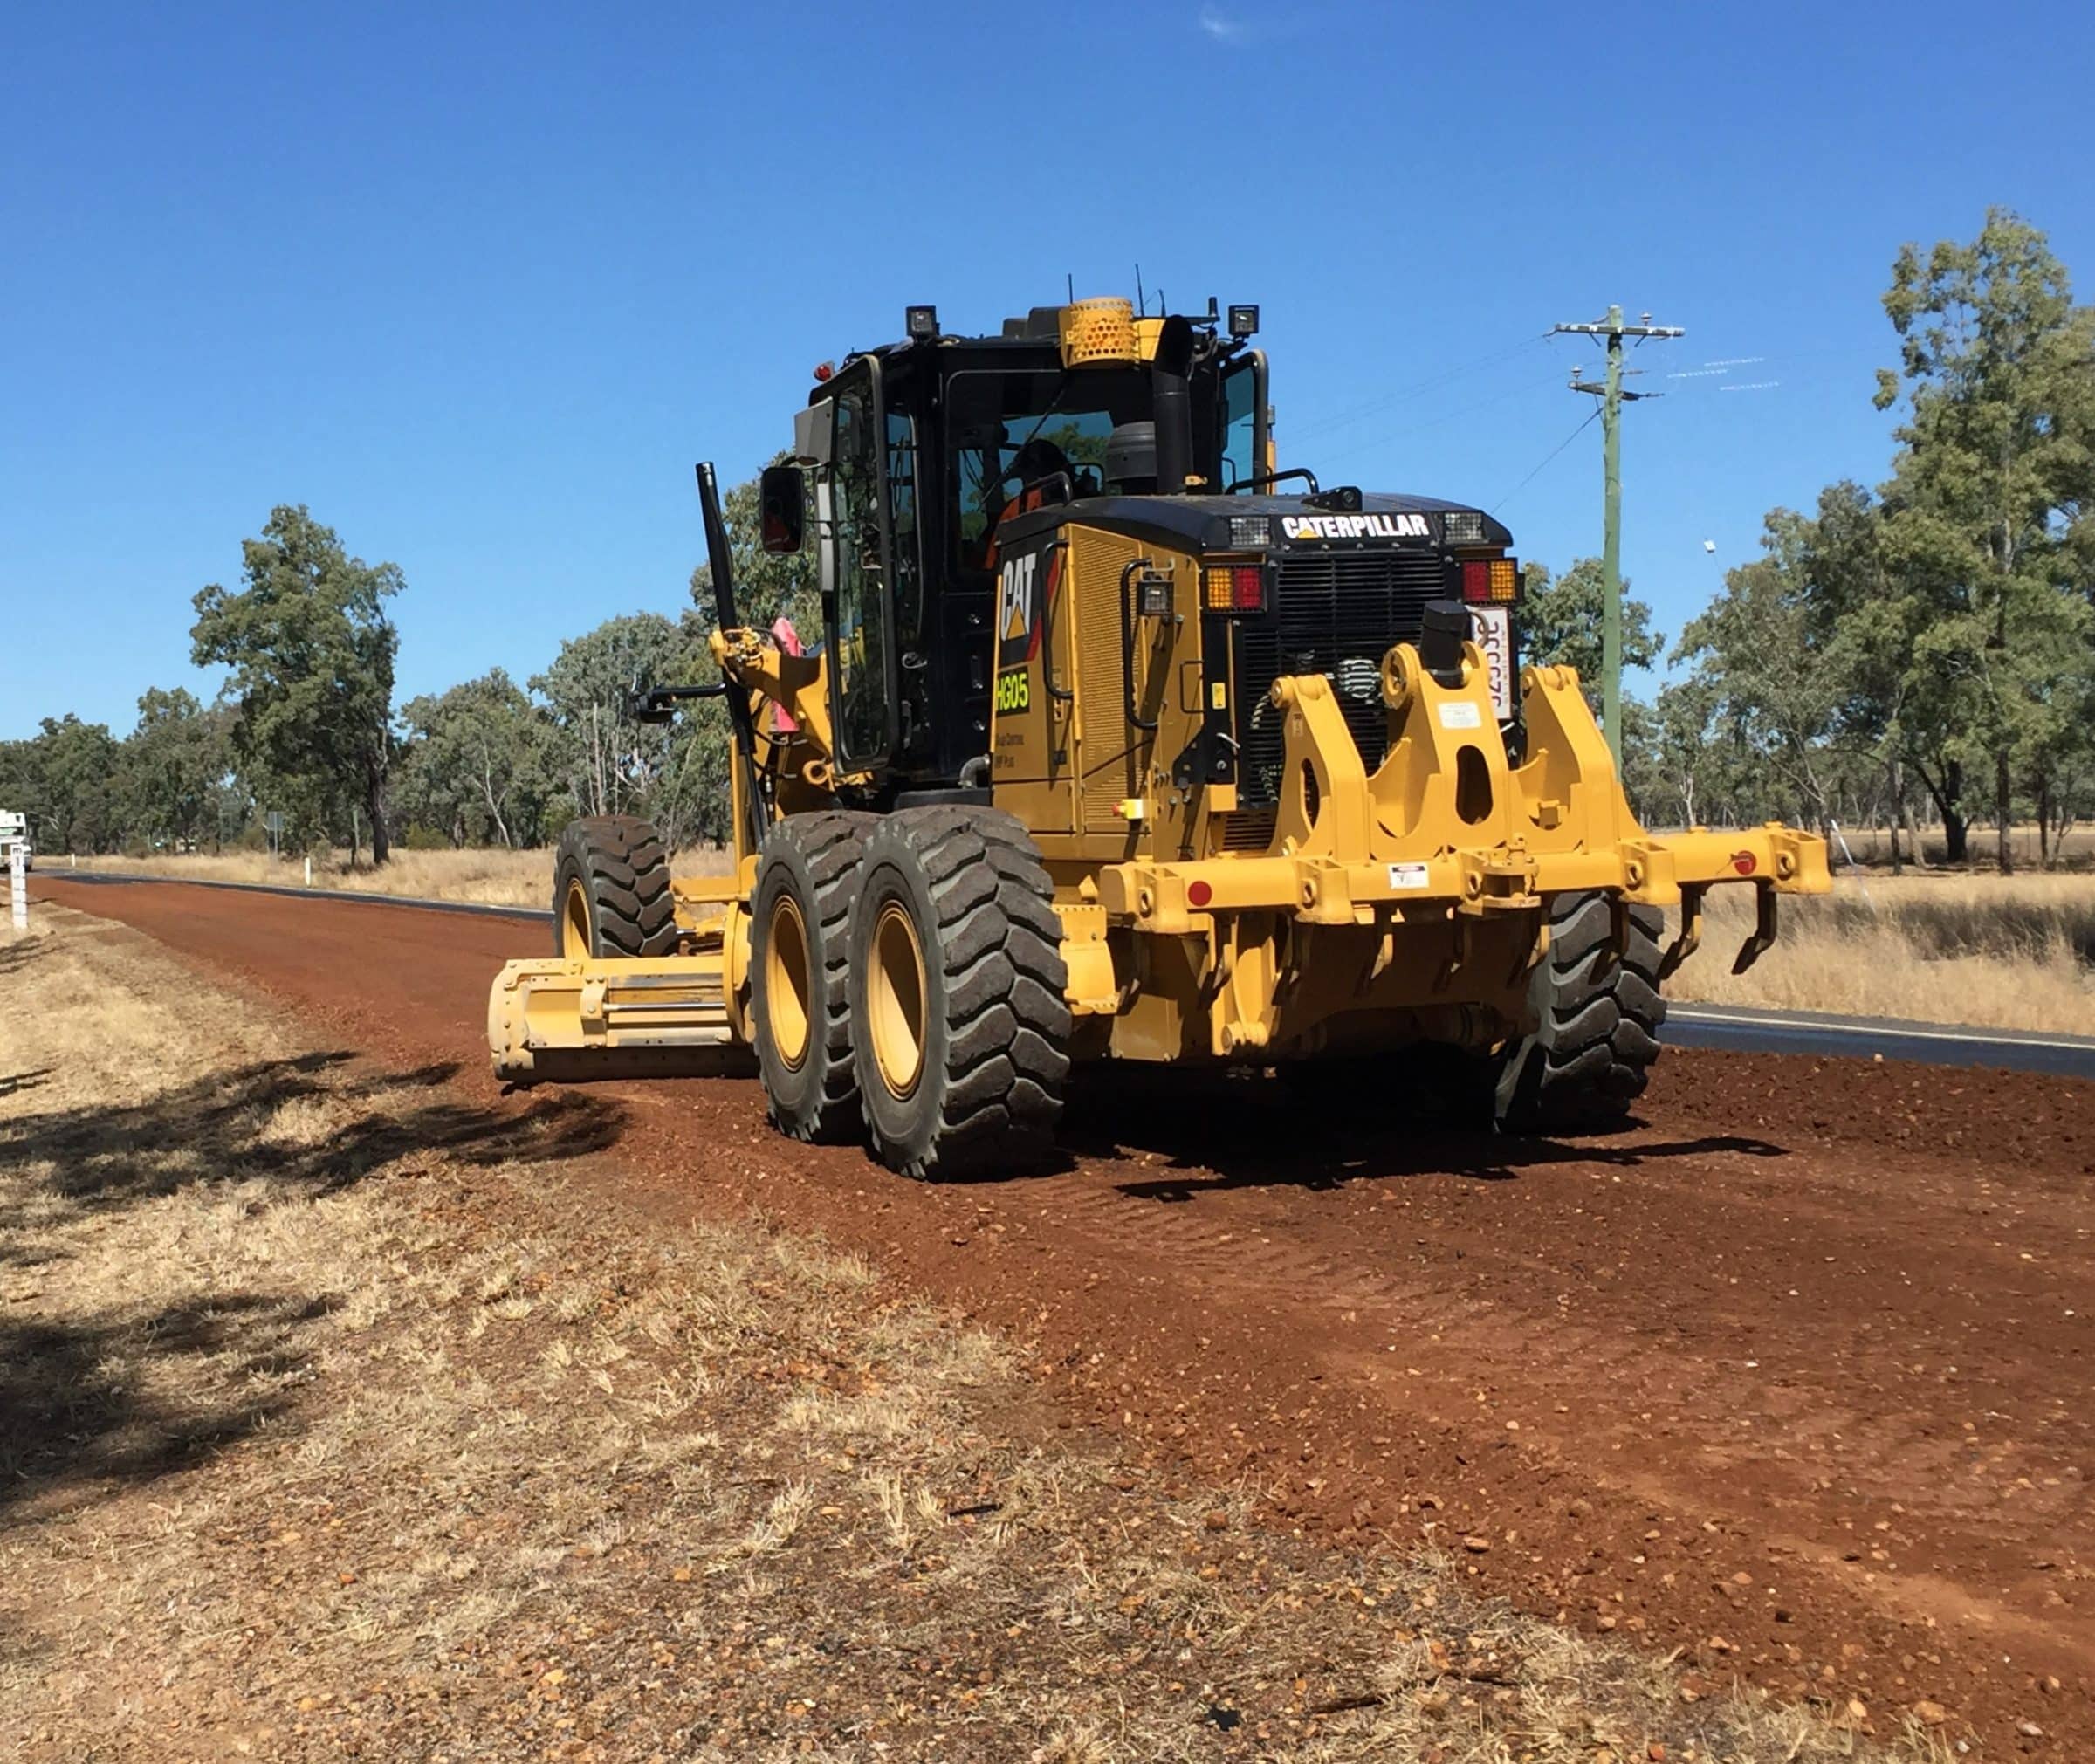
<path fill-rule="evenodd" d="M 2095 310 L 2043 233 L 1994 210 L 1969 243 L 1904 247 L 1883 308 L 1900 365 L 1879 375 L 1896 455 L 1875 488 L 1774 509 L 1762 549 L 1668 645 L 1624 605 L 1624 660 L 1668 668 L 1624 700 L 1624 777 L 1651 825 L 1770 817 L 1881 825 L 1894 857 L 1940 828 L 2038 825 L 2055 859 L 2095 809 Z M 817 626 L 813 564 L 763 553 L 756 482 L 727 497 L 752 616 Z M 195 597 L 191 656 L 224 666 L 214 704 L 153 689 L 128 735 L 75 716 L 0 742 L 0 804 L 44 851 L 536 846 L 574 815 L 641 813 L 672 844 L 727 834 L 716 702 L 637 725 L 635 683 L 712 677 L 706 568 L 677 618 L 629 614 L 568 639 L 543 672 L 494 668 L 394 706 L 394 564 L 365 564 L 306 507 L 243 545 L 239 587 Z M 1529 564 L 1527 660 L 1598 687 L 1601 566 Z"/>

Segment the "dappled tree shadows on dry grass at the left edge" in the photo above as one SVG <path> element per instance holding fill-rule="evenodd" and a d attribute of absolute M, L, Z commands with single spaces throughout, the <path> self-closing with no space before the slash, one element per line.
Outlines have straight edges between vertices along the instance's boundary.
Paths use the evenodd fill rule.
<path fill-rule="evenodd" d="M 624 1129 L 624 1106 L 605 1098 L 471 1106 L 446 1087 L 453 1073 L 304 1054 L 207 1073 L 145 1102 L 0 1121 L 0 1270 L 36 1278 L 29 1270 L 73 1253 L 67 1223 L 199 1184 L 262 1179 L 251 1205 L 262 1215 L 400 1161 L 545 1165 L 603 1152 Z M 318 1112 L 300 1119 L 300 1104 Z M 302 1335 L 339 1303 L 230 1291 L 163 1301 L 178 1282 L 157 1276 L 142 1270 L 132 1301 L 94 1295 L 57 1316 L 0 1314 L 0 1513 L 67 1487 L 149 1481 L 245 1439 L 291 1402 L 308 1360 Z"/>

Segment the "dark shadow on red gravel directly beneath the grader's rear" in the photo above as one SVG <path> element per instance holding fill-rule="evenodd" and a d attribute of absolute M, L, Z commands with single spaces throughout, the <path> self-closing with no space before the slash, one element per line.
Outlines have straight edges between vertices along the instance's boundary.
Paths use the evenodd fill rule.
<path fill-rule="evenodd" d="M 1353 1182 L 1452 1175 L 1515 1182 L 1550 1165 L 1663 1165 L 1680 1156 L 1787 1156 L 1743 1135 L 1695 1140 L 1521 1138 L 1471 1119 L 1456 1092 L 1402 1083 L 1307 1104 L 1259 1073 L 1098 1071 L 1073 1085 L 1062 1144 L 1098 1159 L 1150 1154 L 1154 1179 L 1119 1184 L 1133 1200 L 1184 1203 L 1232 1188 L 1335 1190 Z M 1140 1089 L 1138 1089 L 1140 1087 Z M 1628 1129 L 1642 1123 L 1628 1121 Z"/>

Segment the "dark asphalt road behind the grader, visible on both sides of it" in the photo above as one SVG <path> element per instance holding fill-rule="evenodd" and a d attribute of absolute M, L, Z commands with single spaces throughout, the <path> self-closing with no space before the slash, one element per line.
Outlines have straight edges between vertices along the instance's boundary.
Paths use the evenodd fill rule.
<path fill-rule="evenodd" d="M 159 876 L 126 876 L 109 869 L 44 872 L 67 882 L 101 886 L 161 884 Z M 279 888 L 268 882 L 191 882 L 191 888 L 235 888 L 291 899 L 316 897 L 373 907 L 421 907 L 434 913 L 538 920 L 553 916 L 534 907 L 488 907 L 473 901 L 417 901 L 400 895 L 358 895 L 335 888 Z M 1760 1010 L 1754 1006 L 1668 1004 L 1666 1043 L 1670 1048 L 1714 1048 L 1735 1054 L 1804 1054 L 1810 1058 L 1909 1060 L 1923 1066 L 1990 1066 L 2009 1073 L 2095 1079 L 2095 1039 L 2045 1035 L 2024 1029 L 1973 1029 L 1950 1022 L 1902 1022 L 1883 1016 L 1831 1016 L 1808 1010 Z"/>

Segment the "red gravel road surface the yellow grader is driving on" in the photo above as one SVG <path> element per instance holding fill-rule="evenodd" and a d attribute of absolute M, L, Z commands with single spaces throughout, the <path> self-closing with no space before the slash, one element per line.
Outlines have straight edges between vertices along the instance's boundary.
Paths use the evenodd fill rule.
<path fill-rule="evenodd" d="M 543 924 L 31 890 L 530 1106 L 482 1037 Z M 1632 1131 L 1550 1142 L 1121 1068 L 1083 1077 L 1066 1167 L 966 1186 L 777 1138 L 750 1077 L 555 1106 L 616 1129 L 568 1179 L 865 1249 L 1037 1343 L 1071 1425 L 1280 1523 L 1427 1542 L 1879 1735 L 1925 1701 L 1978 1754 L 2095 1758 L 2091 1083 L 1674 1050 Z"/>

